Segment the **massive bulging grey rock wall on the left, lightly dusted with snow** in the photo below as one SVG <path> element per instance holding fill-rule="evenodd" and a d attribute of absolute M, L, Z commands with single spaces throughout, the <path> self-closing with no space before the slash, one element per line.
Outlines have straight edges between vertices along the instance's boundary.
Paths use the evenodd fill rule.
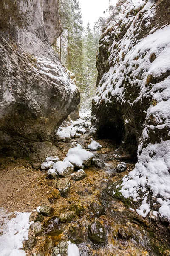
<path fill-rule="evenodd" d="M 28 156 L 32 143 L 53 143 L 59 125 L 79 104 L 79 91 L 50 45 L 61 33 L 58 2 L 0 3 L 3 154 Z"/>

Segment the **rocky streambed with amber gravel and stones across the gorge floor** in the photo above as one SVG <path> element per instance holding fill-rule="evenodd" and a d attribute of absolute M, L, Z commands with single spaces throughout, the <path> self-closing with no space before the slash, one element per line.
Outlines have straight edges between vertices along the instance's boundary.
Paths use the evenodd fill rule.
<path fill-rule="evenodd" d="M 153 211 L 143 218 L 134 211 L 135 205 L 111 193 L 113 183 L 119 184 L 134 168 L 133 159 L 119 151 L 113 140 L 92 141 L 87 121 L 66 126 L 72 138 L 58 138 L 59 159 L 34 163 L 34 168 L 25 160 L 1 161 L 1 189 L 8 192 L 2 193 L 6 198 L 1 198 L 0 206 L 9 212 L 32 211 L 28 240 L 23 242 L 27 255 L 170 255 L 168 224 Z M 97 145 L 98 150 L 90 149 Z M 75 159 L 79 151 L 83 152 L 79 160 L 87 154 L 89 161 Z M 68 165 L 71 155 L 74 160 Z M 17 186 L 13 190 L 12 178 Z"/>

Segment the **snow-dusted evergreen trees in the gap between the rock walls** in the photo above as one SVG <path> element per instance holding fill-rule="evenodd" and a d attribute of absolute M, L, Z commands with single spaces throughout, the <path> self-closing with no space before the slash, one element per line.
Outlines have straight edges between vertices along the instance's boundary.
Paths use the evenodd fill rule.
<path fill-rule="evenodd" d="M 92 98 L 96 91 L 99 29 L 92 30 L 90 24 L 83 28 L 78 0 L 60 0 L 59 13 L 63 33 L 60 49 L 55 50 L 61 50 L 62 63 L 75 74 L 82 100 Z"/>

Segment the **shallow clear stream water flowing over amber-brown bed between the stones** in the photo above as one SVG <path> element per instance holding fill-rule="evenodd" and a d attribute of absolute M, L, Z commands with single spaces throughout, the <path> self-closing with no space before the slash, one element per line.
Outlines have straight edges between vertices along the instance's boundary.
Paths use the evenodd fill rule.
<path fill-rule="evenodd" d="M 87 121 L 83 122 L 88 123 Z M 65 154 L 77 143 L 87 149 L 91 143 L 91 136 L 89 128 L 85 127 L 85 129 L 85 134 L 81 134 L 77 139 L 71 139 L 69 135 L 65 139 L 60 138 L 58 147 Z M 71 128 L 66 128 L 66 130 L 70 131 Z M 69 177 L 71 187 L 67 197 L 54 199 L 51 192 L 48 194 L 48 206 L 53 208 L 53 212 L 51 216 L 41 220 L 43 232 L 37 236 L 33 248 L 25 249 L 27 255 L 55 256 L 57 254 L 52 253 L 53 248 L 61 241 L 71 241 L 77 244 L 79 256 L 170 255 L 168 248 L 163 245 L 166 244 L 168 247 L 167 227 L 164 228 L 151 219 L 142 218 L 123 202 L 110 197 L 105 189 L 109 184 L 127 175 L 134 168 L 133 161 L 127 160 L 128 158 L 124 157 L 125 154 L 117 153 L 117 145 L 114 141 L 96 141 L 102 145 L 102 148 L 93 151 L 94 158 L 102 160 L 104 166 L 99 168 L 99 166 L 92 165 L 85 168 L 87 177 L 80 181 L 71 180 Z M 121 173 L 115 172 L 114 168 L 122 161 L 127 163 L 127 169 Z M 43 177 L 50 183 L 50 191 L 56 188 L 56 180 L 47 179 L 46 175 Z M 99 216 L 96 212 L 94 214 L 90 207 L 94 202 L 104 209 Z M 40 201 L 40 206 L 42 205 Z M 74 218 L 68 222 L 60 222 L 60 214 L 69 211 L 76 212 Z M 102 225 L 99 230 L 102 232 L 104 230 L 104 233 L 97 235 L 101 236 L 102 242 L 94 242 L 90 237 L 89 226 L 94 222 Z M 34 233 L 29 230 L 28 236 L 34 237 Z M 41 253 L 38 254 L 38 252 Z M 74 252 L 72 253 L 71 256 L 77 256 Z M 4 254 L 4 256 L 8 255 Z M 11 254 L 11 256 L 14 255 Z M 67 256 L 67 254 L 63 252 L 62 256 Z"/>

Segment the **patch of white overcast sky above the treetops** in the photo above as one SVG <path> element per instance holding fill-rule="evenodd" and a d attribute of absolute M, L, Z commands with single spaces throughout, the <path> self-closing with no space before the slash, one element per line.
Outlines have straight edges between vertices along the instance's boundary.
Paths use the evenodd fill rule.
<path fill-rule="evenodd" d="M 99 17 L 105 17 L 103 11 L 109 6 L 109 0 L 79 0 L 79 3 L 82 9 L 83 25 L 86 26 L 90 22 L 91 28 Z M 111 0 L 111 5 L 115 6 L 116 3 L 117 0 Z"/>

